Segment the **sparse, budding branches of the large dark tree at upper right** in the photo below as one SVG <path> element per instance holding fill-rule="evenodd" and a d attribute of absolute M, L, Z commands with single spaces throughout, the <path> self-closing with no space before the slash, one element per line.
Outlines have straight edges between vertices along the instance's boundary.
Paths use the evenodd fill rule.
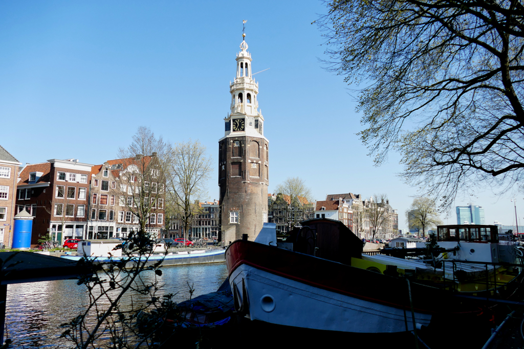
<path fill-rule="evenodd" d="M 359 85 L 377 164 L 451 204 L 468 183 L 524 176 L 524 7 L 518 1 L 334 0 L 318 25 L 329 69 Z M 362 87 L 364 86 L 364 87 Z"/>

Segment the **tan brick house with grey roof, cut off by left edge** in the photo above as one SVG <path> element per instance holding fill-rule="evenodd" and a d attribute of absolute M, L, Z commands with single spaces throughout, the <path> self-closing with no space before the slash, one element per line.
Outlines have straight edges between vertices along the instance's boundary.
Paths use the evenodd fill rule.
<path fill-rule="evenodd" d="M 20 162 L 0 145 L 0 242 L 12 243 L 13 217 L 16 215 L 16 184 Z"/>

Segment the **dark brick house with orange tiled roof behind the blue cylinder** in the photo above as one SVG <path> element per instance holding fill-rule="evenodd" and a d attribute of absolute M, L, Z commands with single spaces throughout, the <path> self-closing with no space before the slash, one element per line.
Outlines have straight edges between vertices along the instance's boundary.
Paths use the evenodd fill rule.
<path fill-rule="evenodd" d="M 31 247 L 47 234 L 57 241 L 85 237 L 92 166 L 75 159 L 52 159 L 26 164 L 20 171 L 16 213 L 25 209 L 35 217 Z"/>

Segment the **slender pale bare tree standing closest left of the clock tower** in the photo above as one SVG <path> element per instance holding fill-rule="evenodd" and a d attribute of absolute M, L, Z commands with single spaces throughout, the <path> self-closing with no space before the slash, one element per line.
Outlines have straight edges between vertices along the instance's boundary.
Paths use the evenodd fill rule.
<path fill-rule="evenodd" d="M 211 157 L 198 140 L 176 144 L 170 149 L 168 157 L 168 201 L 180 218 L 184 238 L 187 238 L 194 217 L 202 212 L 199 201 L 207 195 L 205 181 L 211 173 Z"/>

